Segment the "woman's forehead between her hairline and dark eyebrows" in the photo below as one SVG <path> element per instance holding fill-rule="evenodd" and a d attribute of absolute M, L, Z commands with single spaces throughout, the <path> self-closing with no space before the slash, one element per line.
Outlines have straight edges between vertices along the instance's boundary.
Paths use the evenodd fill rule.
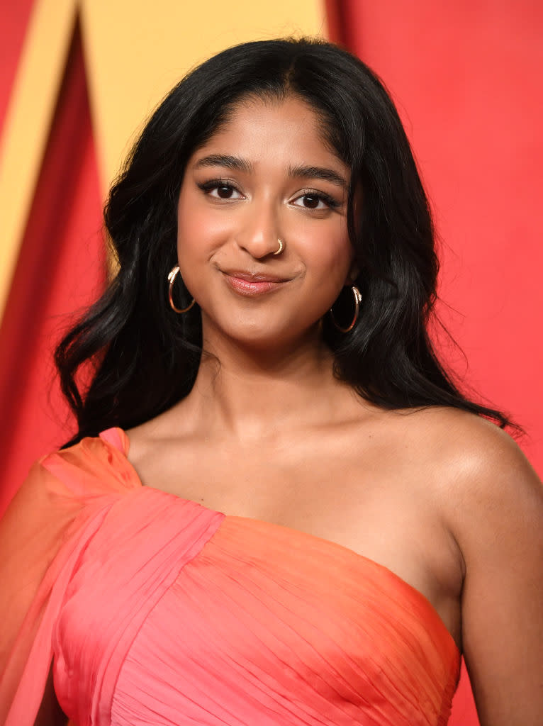
<path fill-rule="evenodd" d="M 197 162 L 210 153 L 229 153 L 252 163 L 326 163 L 346 174 L 348 168 L 324 134 L 322 117 L 306 102 L 285 99 L 245 99 L 235 105 L 226 121 L 192 155 Z"/>

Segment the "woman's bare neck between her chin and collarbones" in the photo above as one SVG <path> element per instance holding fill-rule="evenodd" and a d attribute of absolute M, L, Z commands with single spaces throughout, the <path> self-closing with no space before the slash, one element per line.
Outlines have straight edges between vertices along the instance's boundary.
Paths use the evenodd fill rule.
<path fill-rule="evenodd" d="M 184 413 L 206 436 L 253 441 L 310 425 L 332 423 L 357 398 L 334 378 L 333 356 L 315 330 L 296 346 L 249 349 L 205 340 Z"/>

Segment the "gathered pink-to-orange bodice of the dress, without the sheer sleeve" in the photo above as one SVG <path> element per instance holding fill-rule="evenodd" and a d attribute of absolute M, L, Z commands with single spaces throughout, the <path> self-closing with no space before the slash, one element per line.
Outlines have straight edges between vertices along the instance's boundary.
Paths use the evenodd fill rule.
<path fill-rule="evenodd" d="M 63 709 L 100 726 L 442 725 L 459 666 L 387 568 L 141 485 L 89 526 L 54 655 Z"/>

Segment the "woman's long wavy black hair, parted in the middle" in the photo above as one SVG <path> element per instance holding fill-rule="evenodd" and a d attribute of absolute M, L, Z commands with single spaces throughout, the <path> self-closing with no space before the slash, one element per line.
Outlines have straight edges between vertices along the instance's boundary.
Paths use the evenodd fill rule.
<path fill-rule="evenodd" d="M 324 320 L 335 375 L 387 409 L 452 406 L 510 423 L 462 395 L 428 336 L 438 273 L 433 223 L 383 84 L 338 46 L 287 38 L 234 46 L 192 70 L 155 110 L 113 184 L 105 226 L 118 272 L 55 356 L 78 422 L 70 443 L 143 423 L 191 390 L 203 354 L 200 311 L 177 315 L 166 294 L 184 168 L 237 102 L 287 96 L 316 111 L 327 143 L 351 168 L 348 232 L 363 301 L 351 333 Z M 85 386 L 79 373 L 89 364 Z"/>

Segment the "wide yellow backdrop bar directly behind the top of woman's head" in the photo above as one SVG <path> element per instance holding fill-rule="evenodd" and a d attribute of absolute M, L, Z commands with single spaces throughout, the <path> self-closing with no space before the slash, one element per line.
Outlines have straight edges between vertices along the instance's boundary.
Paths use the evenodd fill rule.
<path fill-rule="evenodd" d="M 324 32 L 320 0 L 83 0 L 83 42 L 104 187 L 160 99 L 242 41 Z"/>

